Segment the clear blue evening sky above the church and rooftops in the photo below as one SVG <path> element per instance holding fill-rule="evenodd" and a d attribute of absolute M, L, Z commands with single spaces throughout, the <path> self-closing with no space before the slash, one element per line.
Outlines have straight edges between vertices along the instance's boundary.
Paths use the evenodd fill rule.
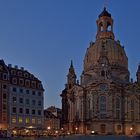
<path fill-rule="evenodd" d="M 61 107 L 73 60 L 78 79 L 104 0 L 0 0 L 0 58 L 24 67 L 45 88 L 45 107 Z M 140 61 L 140 1 L 107 0 L 116 40 L 124 45 L 131 77 Z"/>

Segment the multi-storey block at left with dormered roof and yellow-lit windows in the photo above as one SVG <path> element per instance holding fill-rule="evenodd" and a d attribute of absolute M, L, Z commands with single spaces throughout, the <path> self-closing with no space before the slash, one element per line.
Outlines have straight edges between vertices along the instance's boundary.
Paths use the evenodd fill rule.
<path fill-rule="evenodd" d="M 0 128 L 42 128 L 43 92 L 41 81 L 33 74 L 0 60 Z"/>

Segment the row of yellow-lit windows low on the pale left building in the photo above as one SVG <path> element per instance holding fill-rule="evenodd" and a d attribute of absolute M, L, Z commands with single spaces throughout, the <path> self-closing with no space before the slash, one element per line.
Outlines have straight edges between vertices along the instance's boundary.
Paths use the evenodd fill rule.
<path fill-rule="evenodd" d="M 16 119 L 16 117 L 12 117 L 12 123 L 26 123 L 26 124 L 29 124 L 29 123 L 32 123 L 32 124 L 41 124 L 42 121 L 41 119 L 36 119 L 36 118 L 23 118 L 23 117 L 18 117 L 18 119 Z"/>

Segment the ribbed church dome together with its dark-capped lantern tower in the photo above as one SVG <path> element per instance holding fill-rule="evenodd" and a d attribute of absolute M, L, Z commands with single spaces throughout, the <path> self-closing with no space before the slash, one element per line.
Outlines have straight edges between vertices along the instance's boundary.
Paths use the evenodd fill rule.
<path fill-rule="evenodd" d="M 128 58 L 124 47 L 115 40 L 113 33 L 113 19 L 104 8 L 97 19 L 97 34 L 95 43 L 90 43 L 84 58 L 84 71 L 93 69 L 99 63 L 101 52 L 105 52 L 110 66 L 128 69 Z"/>

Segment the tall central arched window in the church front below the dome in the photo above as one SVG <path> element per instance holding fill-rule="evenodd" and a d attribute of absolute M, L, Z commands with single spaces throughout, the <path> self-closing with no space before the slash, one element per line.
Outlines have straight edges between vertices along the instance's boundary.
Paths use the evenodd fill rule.
<path fill-rule="evenodd" d="M 100 97 L 100 118 L 104 119 L 106 117 L 106 96 Z"/>

